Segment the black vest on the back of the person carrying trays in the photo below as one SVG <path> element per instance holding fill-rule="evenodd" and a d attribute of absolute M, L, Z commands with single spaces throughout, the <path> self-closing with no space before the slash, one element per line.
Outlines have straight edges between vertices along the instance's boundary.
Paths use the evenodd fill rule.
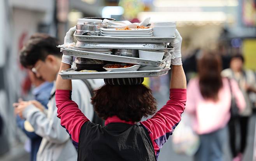
<path fill-rule="evenodd" d="M 78 161 L 156 161 L 147 130 L 140 125 L 109 123 L 82 125 Z"/>

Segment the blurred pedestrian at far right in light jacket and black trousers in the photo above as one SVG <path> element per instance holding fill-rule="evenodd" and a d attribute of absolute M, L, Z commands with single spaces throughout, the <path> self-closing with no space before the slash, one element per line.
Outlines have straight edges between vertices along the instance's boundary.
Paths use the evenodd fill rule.
<path fill-rule="evenodd" d="M 221 73 L 224 77 L 229 77 L 230 79 L 235 79 L 238 82 L 238 85 L 243 93 L 243 96 L 246 101 L 246 108 L 241 111 L 238 122 L 236 120 L 230 121 L 230 148 L 232 156 L 235 161 L 242 160 L 242 155 L 244 154 L 247 142 L 247 133 L 248 133 L 248 124 L 249 118 L 252 115 L 252 100 L 249 97 L 251 92 L 256 92 L 256 80 L 255 75 L 251 70 L 245 70 L 244 66 L 244 57 L 242 54 L 233 55 L 230 61 L 230 68 L 223 70 Z M 237 127 L 240 127 L 240 130 L 237 131 Z M 239 135 L 240 137 L 238 137 Z M 236 140 L 240 138 L 240 146 L 237 147 Z"/>

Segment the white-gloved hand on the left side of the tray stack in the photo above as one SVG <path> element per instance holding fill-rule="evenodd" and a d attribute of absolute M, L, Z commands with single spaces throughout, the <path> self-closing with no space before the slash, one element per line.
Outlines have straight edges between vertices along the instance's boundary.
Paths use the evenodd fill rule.
<path fill-rule="evenodd" d="M 69 46 L 74 46 L 75 43 L 74 43 L 73 35 L 75 33 L 75 30 L 76 30 L 76 26 L 70 28 L 68 30 L 68 32 L 66 33 L 66 36 L 64 38 L 64 45 L 63 45 L 65 48 L 68 48 Z M 68 55 L 62 55 L 61 62 L 72 65 L 73 57 L 68 56 Z"/>

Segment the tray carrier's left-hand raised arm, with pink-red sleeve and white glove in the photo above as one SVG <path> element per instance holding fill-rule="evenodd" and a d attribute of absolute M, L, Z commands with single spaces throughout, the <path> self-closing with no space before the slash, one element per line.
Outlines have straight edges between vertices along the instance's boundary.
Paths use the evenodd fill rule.
<path fill-rule="evenodd" d="M 75 28 L 71 28 L 64 40 L 64 44 L 72 43 L 71 36 L 74 34 Z M 71 67 L 72 57 L 63 55 L 60 66 L 61 70 L 66 70 Z M 58 108 L 58 118 L 60 118 L 61 126 L 67 129 L 71 135 L 73 144 L 78 146 L 79 134 L 82 125 L 88 122 L 88 118 L 79 110 L 77 104 L 71 99 L 72 82 L 71 80 L 64 80 L 60 75 L 56 80 L 56 106 Z"/>

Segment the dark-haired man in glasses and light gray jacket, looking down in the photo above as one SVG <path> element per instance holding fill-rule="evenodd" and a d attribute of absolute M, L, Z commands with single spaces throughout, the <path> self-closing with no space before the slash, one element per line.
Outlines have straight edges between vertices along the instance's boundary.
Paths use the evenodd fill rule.
<path fill-rule="evenodd" d="M 65 41 L 67 39 L 70 37 L 66 36 Z M 65 128 L 61 127 L 60 119 L 56 117 L 55 80 L 62 57 L 60 49 L 56 47 L 58 45 L 58 41 L 47 34 L 34 34 L 20 54 L 20 62 L 25 68 L 32 70 L 37 77 L 54 82 L 47 104 L 48 110 L 35 101 L 22 101 L 15 108 L 15 113 L 25 118 L 32 125 L 35 133 L 43 138 L 37 152 L 37 161 L 74 161 L 77 159 L 77 150 L 72 145 Z M 92 120 L 93 105 L 90 104 L 91 95 L 88 87 L 81 80 L 72 81 L 72 86 L 72 99 Z M 77 146 L 77 144 L 74 145 Z"/>

